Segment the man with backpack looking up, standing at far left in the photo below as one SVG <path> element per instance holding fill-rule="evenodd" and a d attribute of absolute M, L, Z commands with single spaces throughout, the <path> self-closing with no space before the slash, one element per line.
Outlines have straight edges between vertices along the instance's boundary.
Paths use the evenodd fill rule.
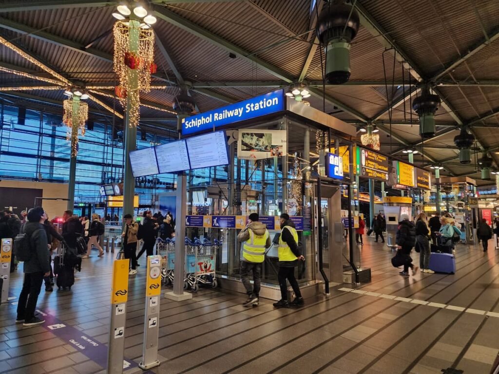
<path fill-rule="evenodd" d="M 24 282 L 17 302 L 15 323 L 22 323 L 23 326 L 45 322 L 34 315 L 43 277 L 50 275 L 50 255 L 43 226 L 45 219 L 47 215 L 41 206 L 29 210 L 27 222 L 15 238 L 17 259 L 24 261 Z"/>

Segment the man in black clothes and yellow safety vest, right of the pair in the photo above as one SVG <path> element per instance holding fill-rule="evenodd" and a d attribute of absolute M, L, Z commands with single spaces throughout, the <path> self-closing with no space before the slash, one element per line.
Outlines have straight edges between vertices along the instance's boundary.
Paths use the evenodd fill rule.
<path fill-rule="evenodd" d="M 300 287 L 294 277 L 294 268 L 298 265 L 298 261 L 304 261 L 300 248 L 298 247 L 298 233 L 294 227 L 293 221 L 289 219 L 287 213 L 280 215 L 281 234 L 279 237 L 279 273 L 277 279 L 281 291 L 281 299 L 274 303 L 274 308 L 289 308 L 290 305 L 303 305 Z M 291 302 L 287 302 L 287 282 L 293 288 L 296 298 Z"/>

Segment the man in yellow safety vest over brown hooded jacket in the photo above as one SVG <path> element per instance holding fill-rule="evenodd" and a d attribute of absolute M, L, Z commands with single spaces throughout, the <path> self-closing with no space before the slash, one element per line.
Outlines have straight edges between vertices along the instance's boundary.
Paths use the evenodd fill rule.
<path fill-rule="evenodd" d="M 265 259 L 265 249 L 269 248 L 270 235 L 264 223 L 258 221 L 257 213 L 251 213 L 248 224 L 238 235 L 238 241 L 243 244 L 243 261 L 241 262 L 241 281 L 243 282 L 248 300 L 245 307 L 258 305 L 258 294 L 261 283 L 261 263 Z M 250 272 L 253 273 L 253 287 L 250 283 Z"/>

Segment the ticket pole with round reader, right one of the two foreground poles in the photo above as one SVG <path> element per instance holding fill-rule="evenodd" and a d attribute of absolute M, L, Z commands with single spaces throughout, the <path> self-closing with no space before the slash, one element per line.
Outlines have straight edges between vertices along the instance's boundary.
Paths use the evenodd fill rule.
<path fill-rule="evenodd" d="M 149 370 L 158 366 L 159 305 L 161 295 L 161 256 L 147 257 L 146 315 L 144 344 L 139 367 Z"/>

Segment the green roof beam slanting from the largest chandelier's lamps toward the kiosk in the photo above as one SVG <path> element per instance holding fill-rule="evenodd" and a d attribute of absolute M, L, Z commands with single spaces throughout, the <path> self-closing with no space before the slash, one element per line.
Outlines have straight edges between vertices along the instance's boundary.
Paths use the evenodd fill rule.
<path fill-rule="evenodd" d="M 231 43 L 230 41 L 227 41 L 221 38 L 220 36 L 214 34 L 213 32 L 204 29 L 203 27 L 197 25 L 196 23 L 181 17 L 180 15 L 174 13 L 173 11 L 167 9 L 166 7 L 155 4 L 153 6 L 153 9 L 154 9 L 154 15 L 156 17 L 161 18 L 164 21 L 167 21 L 187 32 L 190 32 L 191 34 L 196 35 L 197 37 L 203 40 L 209 41 L 210 43 L 220 48 L 235 53 L 236 55 L 241 56 L 242 58 L 252 63 L 255 63 L 260 67 L 260 69 L 276 76 L 279 79 L 282 79 L 287 83 L 293 82 L 294 78 L 292 75 L 277 68 L 276 66 L 271 65 L 266 61 L 263 61 L 261 58 L 252 55 L 250 52 L 246 51 L 245 49 L 238 47 L 237 45 Z"/>

